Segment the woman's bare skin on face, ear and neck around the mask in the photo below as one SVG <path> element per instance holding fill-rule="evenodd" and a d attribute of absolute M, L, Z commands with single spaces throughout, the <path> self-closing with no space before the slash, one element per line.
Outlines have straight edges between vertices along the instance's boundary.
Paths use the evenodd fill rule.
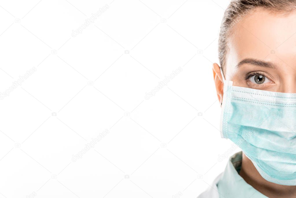
<path fill-rule="evenodd" d="M 256 8 L 235 24 L 231 32 L 223 70 L 226 80 L 233 81 L 234 86 L 296 93 L 296 11 L 283 15 Z M 244 59 L 247 61 L 237 67 Z M 256 65 L 250 59 L 257 60 Z M 264 82 L 256 83 L 255 75 L 264 75 L 265 80 L 261 81 Z M 222 103 L 223 81 L 217 63 L 213 64 L 213 76 Z M 266 181 L 244 154 L 240 176 L 267 197 L 296 197 L 296 186 Z"/>

